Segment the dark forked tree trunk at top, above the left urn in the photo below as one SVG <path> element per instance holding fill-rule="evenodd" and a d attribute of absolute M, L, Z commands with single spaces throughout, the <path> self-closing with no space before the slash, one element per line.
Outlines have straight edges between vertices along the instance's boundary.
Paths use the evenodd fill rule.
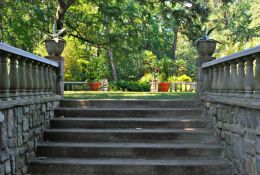
<path fill-rule="evenodd" d="M 74 4 L 76 0 L 68 0 L 66 3 L 64 0 L 58 0 L 57 10 L 56 10 L 56 23 L 57 29 L 60 30 L 63 27 L 63 19 L 72 4 Z"/>

